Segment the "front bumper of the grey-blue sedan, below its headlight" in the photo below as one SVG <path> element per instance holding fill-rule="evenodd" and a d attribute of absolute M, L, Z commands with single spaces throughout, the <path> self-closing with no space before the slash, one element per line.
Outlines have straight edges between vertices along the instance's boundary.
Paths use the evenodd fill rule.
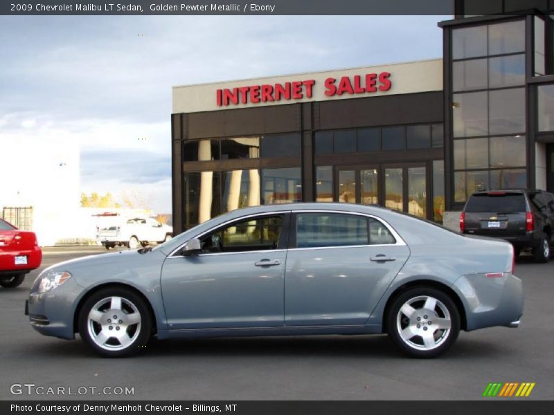
<path fill-rule="evenodd" d="M 44 335 L 75 338 L 73 316 L 81 292 L 73 278 L 46 293 L 31 292 L 25 308 L 33 329 Z"/>

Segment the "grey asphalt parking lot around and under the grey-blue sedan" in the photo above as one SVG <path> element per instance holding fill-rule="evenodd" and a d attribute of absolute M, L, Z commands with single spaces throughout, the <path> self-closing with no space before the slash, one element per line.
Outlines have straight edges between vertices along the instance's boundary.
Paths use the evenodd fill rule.
<path fill-rule="evenodd" d="M 404 358 L 384 335 L 154 341 L 134 358 L 102 359 L 80 340 L 36 333 L 24 315 L 24 301 L 46 266 L 104 252 L 46 248 L 42 267 L 22 286 L 0 289 L 1 399 L 473 400 L 489 382 L 536 382 L 526 399 L 554 398 L 552 260 L 533 264 L 524 256 L 517 262 L 515 273 L 526 293 L 519 329 L 462 332 L 435 360 Z M 58 396 L 28 394 L 27 388 L 13 395 L 13 384 L 45 388 L 40 391 L 89 389 L 84 395 L 67 395 L 64 389 Z M 133 393 L 116 396 L 117 387 Z"/>

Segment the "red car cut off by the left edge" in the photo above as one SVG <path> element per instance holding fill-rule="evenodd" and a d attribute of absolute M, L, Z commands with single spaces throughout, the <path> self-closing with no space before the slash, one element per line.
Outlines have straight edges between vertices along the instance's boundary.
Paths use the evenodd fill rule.
<path fill-rule="evenodd" d="M 0 286 L 14 288 L 26 273 L 38 268 L 42 250 L 35 232 L 19 230 L 0 219 Z"/>

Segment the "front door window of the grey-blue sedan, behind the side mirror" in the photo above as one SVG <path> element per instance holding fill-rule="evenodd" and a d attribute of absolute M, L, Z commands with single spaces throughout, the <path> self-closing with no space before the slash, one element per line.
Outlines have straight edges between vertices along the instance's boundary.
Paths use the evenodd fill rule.
<path fill-rule="evenodd" d="M 247 252 L 277 249 L 283 216 L 265 216 L 235 222 L 200 239 L 202 252 Z"/>

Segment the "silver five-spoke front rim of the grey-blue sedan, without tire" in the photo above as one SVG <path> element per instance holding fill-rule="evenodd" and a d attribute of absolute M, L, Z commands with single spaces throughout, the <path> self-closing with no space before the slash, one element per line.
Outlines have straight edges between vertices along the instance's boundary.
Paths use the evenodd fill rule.
<path fill-rule="evenodd" d="M 102 349 L 129 347 L 141 333 L 141 313 L 123 297 L 107 297 L 94 304 L 88 315 L 90 338 Z"/>

